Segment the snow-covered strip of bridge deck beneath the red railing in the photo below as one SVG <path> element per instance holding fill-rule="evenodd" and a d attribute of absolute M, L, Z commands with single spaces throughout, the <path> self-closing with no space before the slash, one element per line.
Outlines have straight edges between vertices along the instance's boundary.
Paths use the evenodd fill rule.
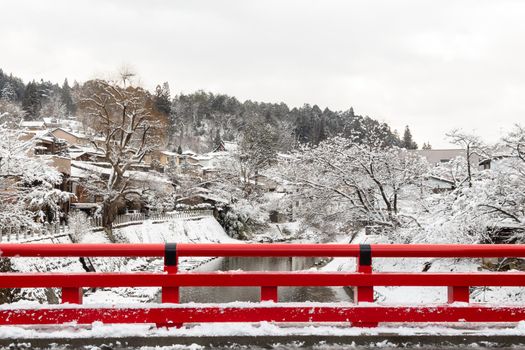
<path fill-rule="evenodd" d="M 375 329 L 349 328 L 335 325 L 276 326 L 270 323 L 205 324 L 185 326 L 180 329 L 158 329 L 148 325 L 103 325 L 76 326 L 69 329 L 46 328 L 0 328 L 0 346 L 6 348 L 72 348 L 97 346 L 105 349 L 135 349 L 143 346 L 189 348 L 192 350 L 214 347 L 232 348 L 233 345 L 247 348 L 335 349 L 351 345 L 365 348 L 435 348 L 458 346 L 509 347 L 516 349 L 525 344 L 525 327 L 505 325 L 498 328 L 465 328 L 465 325 L 442 327 L 424 325 L 407 327 L 402 325 L 382 326 Z M 280 344 L 280 346 L 278 346 Z M 289 345 L 287 345 L 289 344 Z M 187 347 L 182 347 L 186 345 Z"/>

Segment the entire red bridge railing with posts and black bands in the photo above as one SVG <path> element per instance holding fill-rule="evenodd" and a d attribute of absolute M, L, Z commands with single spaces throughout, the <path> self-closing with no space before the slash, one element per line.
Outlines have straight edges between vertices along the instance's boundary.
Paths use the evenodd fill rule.
<path fill-rule="evenodd" d="M 61 288 L 72 305 L 0 308 L 0 324 L 192 322 L 518 322 L 522 305 L 469 303 L 473 286 L 525 286 L 523 272 L 373 272 L 374 258 L 519 258 L 525 245 L 355 245 L 355 244 L 0 244 L 2 257 L 163 257 L 164 272 L 0 273 L 0 288 Z M 350 257 L 357 271 L 179 272 L 179 257 Z M 260 287 L 261 301 L 275 303 L 179 304 L 180 287 Z M 355 304 L 278 303 L 278 287 L 353 286 Z M 375 286 L 444 286 L 440 305 L 380 305 Z M 162 303 L 95 307 L 82 304 L 86 287 L 161 287 Z M 78 305 L 75 305 L 78 304 Z"/>

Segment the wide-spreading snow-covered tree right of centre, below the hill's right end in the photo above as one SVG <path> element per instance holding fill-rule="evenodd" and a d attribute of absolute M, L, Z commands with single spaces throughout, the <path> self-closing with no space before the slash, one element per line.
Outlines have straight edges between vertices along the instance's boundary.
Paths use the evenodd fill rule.
<path fill-rule="evenodd" d="M 426 161 L 404 149 L 336 137 L 287 158 L 276 176 L 283 174 L 301 202 L 307 207 L 319 204 L 325 216 L 397 227 L 412 221 L 402 200 L 412 195 L 411 188 L 421 186 L 427 167 Z"/>

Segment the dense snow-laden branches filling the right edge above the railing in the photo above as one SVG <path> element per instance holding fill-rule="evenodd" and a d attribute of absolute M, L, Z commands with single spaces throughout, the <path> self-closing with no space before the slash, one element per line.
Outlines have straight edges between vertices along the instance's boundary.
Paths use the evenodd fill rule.
<path fill-rule="evenodd" d="M 480 149 L 478 138 L 469 140 Z M 491 160 L 498 166 L 471 172 L 471 181 L 463 157 L 433 168 L 433 174 L 442 171 L 442 177 L 452 180 L 454 189 L 426 196 L 419 206 L 422 227 L 400 234 L 410 242 L 525 242 L 524 146 L 525 129 L 516 126 L 496 147 L 497 153 L 492 151 L 497 156 Z M 500 236 L 502 228 L 510 233 Z"/>

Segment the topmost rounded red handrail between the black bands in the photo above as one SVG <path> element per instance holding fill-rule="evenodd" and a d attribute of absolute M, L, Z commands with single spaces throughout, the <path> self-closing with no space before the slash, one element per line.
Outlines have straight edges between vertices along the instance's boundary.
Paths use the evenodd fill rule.
<path fill-rule="evenodd" d="M 231 244 L 178 243 L 177 256 L 238 257 L 358 257 L 359 244 Z M 374 244 L 377 258 L 516 258 L 525 257 L 521 244 Z M 4 257 L 162 257 L 165 245 L 145 244 L 0 244 Z"/>

